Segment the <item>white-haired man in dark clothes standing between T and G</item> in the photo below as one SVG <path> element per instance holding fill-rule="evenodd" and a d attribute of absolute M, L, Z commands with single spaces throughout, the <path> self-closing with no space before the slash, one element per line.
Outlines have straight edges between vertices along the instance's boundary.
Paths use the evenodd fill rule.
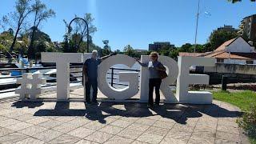
<path fill-rule="evenodd" d="M 82 73 L 84 74 L 84 78 L 86 81 L 86 103 L 90 104 L 90 87 L 93 87 L 93 98 L 92 102 L 97 103 L 97 94 L 98 94 L 98 65 L 102 62 L 102 60 L 109 58 L 114 54 L 106 55 L 102 58 L 98 57 L 98 51 L 93 50 L 91 54 L 91 58 L 88 58 L 86 62 L 83 64 Z"/>

